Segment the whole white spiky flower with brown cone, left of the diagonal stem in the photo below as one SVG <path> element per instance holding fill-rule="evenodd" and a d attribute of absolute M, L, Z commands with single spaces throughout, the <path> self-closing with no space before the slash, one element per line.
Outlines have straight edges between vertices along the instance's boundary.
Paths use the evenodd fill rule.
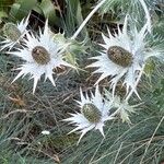
<path fill-rule="evenodd" d="M 30 74 L 30 79 L 34 79 L 33 93 L 35 92 L 38 80 L 44 73 L 45 80 L 48 78 L 52 85 L 55 85 L 55 80 L 52 78 L 55 73 L 52 71 L 54 69 L 62 66 L 74 68 L 72 65 L 65 61 L 62 51 L 65 51 L 67 45 L 62 45 L 61 47 L 54 42 L 52 35 L 48 28 L 48 21 L 46 21 L 44 32 L 39 31 L 39 36 L 27 33 L 24 43 L 26 47 L 23 49 L 16 48 L 16 51 L 9 52 L 26 61 L 16 69 L 21 71 L 13 82 L 22 75 Z"/>

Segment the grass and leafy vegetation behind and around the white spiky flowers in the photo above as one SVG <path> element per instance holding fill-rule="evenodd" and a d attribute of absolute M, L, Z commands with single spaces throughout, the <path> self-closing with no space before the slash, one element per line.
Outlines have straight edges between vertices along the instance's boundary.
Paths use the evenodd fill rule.
<path fill-rule="evenodd" d="M 152 2 L 153 1 L 153 2 Z M 156 45 L 164 44 L 164 2 L 145 0 L 151 9 Z M 16 22 L 31 12 L 30 26 L 38 30 L 49 19 L 55 33 L 65 32 L 69 38 L 91 12 L 97 0 L 1 0 L 0 26 Z M 127 8 L 129 9 L 128 11 Z M 117 31 L 127 12 L 141 17 L 141 8 L 129 0 L 106 3 L 86 24 L 79 42 L 87 43 L 85 52 L 74 51 L 84 68 L 87 57 L 96 55 L 95 44 L 106 25 Z M 137 11 L 137 14 L 136 14 Z M 140 20 L 140 22 L 143 20 Z M 143 23 L 143 22 L 141 22 Z M 160 38 L 160 39 L 159 39 Z M 79 87 L 92 89 L 96 77 L 90 70 L 60 72 L 57 86 L 49 81 L 39 83 L 32 94 L 32 81 L 20 79 L 13 84 L 12 71 L 19 59 L 0 55 L 0 163 L 1 164 L 162 164 L 164 162 L 164 67 L 150 60 L 148 75 L 143 75 L 139 91 L 144 102 L 131 116 L 131 125 L 120 120 L 108 122 L 106 138 L 97 131 L 89 132 L 77 147 L 79 136 L 67 134 L 72 127 L 62 122 L 69 112 L 78 110 L 73 101 L 79 98 Z M 106 81 L 101 86 L 107 86 Z M 124 89 L 119 90 L 119 94 Z M 138 102 L 136 97 L 132 102 Z M 42 134 L 49 130 L 49 136 Z"/>

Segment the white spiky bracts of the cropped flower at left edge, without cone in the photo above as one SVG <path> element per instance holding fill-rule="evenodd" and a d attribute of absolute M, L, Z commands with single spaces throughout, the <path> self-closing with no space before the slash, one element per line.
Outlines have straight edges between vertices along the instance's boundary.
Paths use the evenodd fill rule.
<path fill-rule="evenodd" d="M 9 50 L 16 44 L 20 43 L 20 40 L 24 37 L 24 35 L 27 33 L 27 25 L 28 25 L 28 19 L 30 19 L 30 14 L 27 15 L 26 19 L 23 19 L 20 23 L 15 24 L 17 31 L 20 32 L 21 36 L 16 39 L 16 40 L 12 40 L 10 37 L 4 36 L 3 39 L 1 42 L 1 48 L 0 50 L 3 50 L 5 48 L 9 48 Z M 5 34 L 4 34 L 5 35 Z"/>

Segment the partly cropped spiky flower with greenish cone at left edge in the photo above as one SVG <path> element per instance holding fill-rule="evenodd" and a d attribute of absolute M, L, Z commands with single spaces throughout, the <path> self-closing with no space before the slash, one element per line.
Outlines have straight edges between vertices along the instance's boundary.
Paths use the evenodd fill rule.
<path fill-rule="evenodd" d="M 5 48 L 13 48 L 14 45 L 19 44 L 24 35 L 27 33 L 27 25 L 28 25 L 28 19 L 30 14 L 27 15 L 26 19 L 23 19 L 20 23 L 14 24 L 14 23 L 5 23 L 3 26 L 3 42 L 1 42 L 1 49 L 3 50 Z"/>

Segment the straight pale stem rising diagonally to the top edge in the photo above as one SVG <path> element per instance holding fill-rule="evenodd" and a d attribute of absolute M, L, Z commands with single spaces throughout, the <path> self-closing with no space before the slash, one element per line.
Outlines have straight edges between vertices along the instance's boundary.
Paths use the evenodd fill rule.
<path fill-rule="evenodd" d="M 93 14 L 105 3 L 106 0 L 102 0 L 92 11 L 91 13 L 86 16 L 86 19 L 82 22 L 82 24 L 79 26 L 77 32 L 73 34 L 71 39 L 75 39 L 75 37 L 80 34 L 82 28 L 85 26 L 85 24 L 90 21 L 90 19 L 93 16 Z"/>

